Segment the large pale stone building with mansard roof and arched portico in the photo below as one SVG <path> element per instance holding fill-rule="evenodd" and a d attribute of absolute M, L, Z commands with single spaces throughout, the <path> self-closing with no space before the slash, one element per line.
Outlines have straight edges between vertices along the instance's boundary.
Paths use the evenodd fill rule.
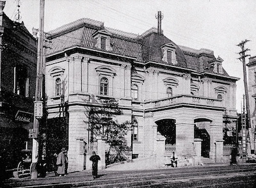
<path fill-rule="evenodd" d="M 133 158 L 164 159 L 176 151 L 194 164 L 202 157 L 229 161 L 223 130 L 236 127 L 239 79 L 213 51 L 177 45 L 154 27 L 135 35 L 91 19 L 49 33 L 48 118 L 67 118 L 70 171 L 90 168 L 88 113 L 106 98 L 118 100 L 124 111 L 118 120 L 133 122 L 127 136 Z"/>

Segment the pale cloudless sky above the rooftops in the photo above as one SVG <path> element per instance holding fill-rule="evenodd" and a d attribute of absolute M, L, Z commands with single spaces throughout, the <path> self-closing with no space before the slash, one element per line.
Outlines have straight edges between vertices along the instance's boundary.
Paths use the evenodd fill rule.
<path fill-rule="evenodd" d="M 3 1 L 3 0 L 2 0 Z M 20 22 L 29 32 L 39 27 L 40 0 L 20 0 Z M 18 0 L 7 0 L 4 13 L 15 20 Z M 255 0 L 45 0 L 44 31 L 51 31 L 81 18 L 104 22 L 104 26 L 142 34 L 157 27 L 157 12 L 163 13 L 163 34 L 177 45 L 211 49 L 237 84 L 237 112 L 244 94 L 243 64 L 237 59 L 250 40 L 247 54 L 256 56 Z M 248 58 L 246 58 L 248 63 Z"/>

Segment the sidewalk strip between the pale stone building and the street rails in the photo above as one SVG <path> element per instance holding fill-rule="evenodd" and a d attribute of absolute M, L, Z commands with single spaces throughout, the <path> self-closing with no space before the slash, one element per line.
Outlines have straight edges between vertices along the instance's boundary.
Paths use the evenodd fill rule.
<path fill-rule="evenodd" d="M 49 187 L 49 185 L 56 185 L 56 184 L 62 184 L 59 187 L 74 187 L 74 184 L 79 185 L 83 184 L 82 182 L 93 182 L 102 180 L 105 178 L 108 178 L 109 176 L 118 176 L 122 173 L 134 173 L 134 171 L 150 171 L 150 170 L 157 170 L 157 169 L 184 169 L 184 168 L 207 168 L 211 167 L 209 166 L 186 166 L 186 167 L 179 167 L 178 168 L 156 168 L 154 165 L 148 164 L 147 166 L 144 166 L 146 163 L 141 163 L 140 165 L 136 166 L 134 165 L 135 162 L 126 163 L 126 164 L 120 164 L 116 166 L 112 166 L 110 168 L 99 170 L 99 179 L 93 180 L 92 176 L 92 170 L 84 170 L 84 171 L 77 171 L 73 173 L 69 173 L 67 176 L 55 176 L 53 172 L 47 173 L 45 178 L 36 178 L 31 179 L 30 176 L 26 178 L 10 178 L 9 180 L 6 180 L 4 182 L 4 187 Z M 256 166 L 255 163 L 244 163 L 244 164 L 237 164 L 237 166 Z M 142 168 L 142 167 L 145 168 Z M 212 166 L 218 168 L 218 166 L 230 166 L 230 164 L 212 164 Z M 151 168 L 150 168 L 151 167 Z M 48 185 L 48 186 L 47 186 Z M 1 186 L 0 186 L 1 187 Z"/>

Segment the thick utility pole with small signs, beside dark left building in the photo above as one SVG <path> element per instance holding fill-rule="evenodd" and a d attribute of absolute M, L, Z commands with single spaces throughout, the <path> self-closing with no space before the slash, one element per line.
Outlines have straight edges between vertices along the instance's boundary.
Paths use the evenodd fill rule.
<path fill-rule="evenodd" d="M 35 112 L 34 112 L 34 124 L 33 124 L 33 150 L 32 150 L 32 167 L 31 167 L 31 179 L 37 178 L 36 164 L 38 158 L 42 155 L 39 151 L 40 137 L 38 134 L 40 130 L 40 124 L 44 120 L 43 114 L 43 95 L 44 89 L 44 4 L 45 0 L 40 0 L 40 24 L 39 24 L 39 37 L 38 37 L 38 49 L 37 49 L 37 65 L 36 65 L 36 92 L 35 92 Z M 40 132 L 39 132 L 40 133 Z"/>

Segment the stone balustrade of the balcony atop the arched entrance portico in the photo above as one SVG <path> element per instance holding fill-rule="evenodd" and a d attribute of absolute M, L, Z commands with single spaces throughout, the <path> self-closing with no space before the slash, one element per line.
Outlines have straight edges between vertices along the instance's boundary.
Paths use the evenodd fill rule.
<path fill-rule="evenodd" d="M 223 107 L 222 101 L 217 98 L 199 97 L 194 95 L 177 95 L 174 97 L 145 102 L 145 109 L 156 109 L 159 107 L 174 106 L 177 104 Z"/>

